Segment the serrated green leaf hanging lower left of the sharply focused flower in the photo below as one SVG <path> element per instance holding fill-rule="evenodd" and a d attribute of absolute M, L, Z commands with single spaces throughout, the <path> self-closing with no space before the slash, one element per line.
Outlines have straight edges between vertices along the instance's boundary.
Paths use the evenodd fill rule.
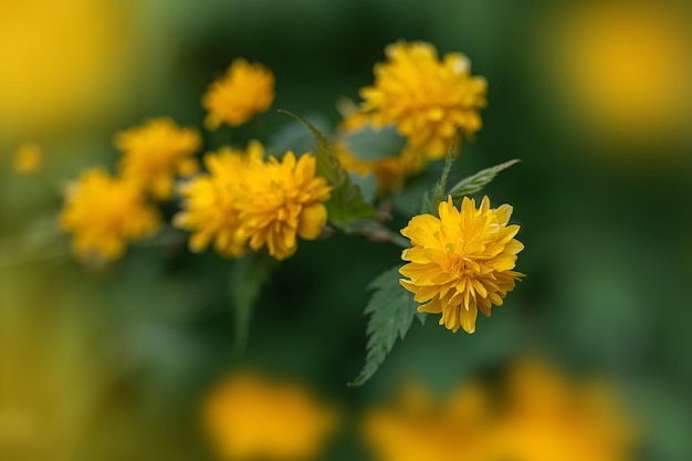
<path fill-rule="evenodd" d="M 418 304 L 413 295 L 399 284 L 399 266 L 396 266 L 378 275 L 368 285 L 375 292 L 365 307 L 365 313 L 370 315 L 365 367 L 348 386 L 361 386 L 370 379 L 397 338 L 403 339 L 413 322 Z"/>

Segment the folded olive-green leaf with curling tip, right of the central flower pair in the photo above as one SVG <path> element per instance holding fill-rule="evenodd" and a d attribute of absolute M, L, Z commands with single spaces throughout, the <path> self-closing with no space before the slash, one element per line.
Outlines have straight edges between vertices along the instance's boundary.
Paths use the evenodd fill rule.
<path fill-rule="evenodd" d="M 348 172 L 342 168 L 338 159 L 332 151 L 329 142 L 310 122 L 289 111 L 279 109 L 305 125 L 315 138 L 315 157 L 317 159 L 317 176 L 322 176 L 332 186 L 332 197 L 326 202 L 327 219 L 334 223 L 345 223 L 356 219 L 370 218 L 375 208 L 363 199 L 358 186 L 352 182 Z"/>

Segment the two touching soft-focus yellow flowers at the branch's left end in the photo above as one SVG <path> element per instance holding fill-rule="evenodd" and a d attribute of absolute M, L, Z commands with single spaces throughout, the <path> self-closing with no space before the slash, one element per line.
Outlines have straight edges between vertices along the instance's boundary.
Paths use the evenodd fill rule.
<path fill-rule="evenodd" d="M 88 170 L 65 193 L 61 228 L 74 234 L 74 253 L 90 262 L 116 260 L 128 242 L 155 233 L 160 213 L 147 198 L 170 198 L 177 175 L 198 169 L 193 154 L 200 144 L 196 129 L 170 118 L 119 133 L 118 175 Z"/>

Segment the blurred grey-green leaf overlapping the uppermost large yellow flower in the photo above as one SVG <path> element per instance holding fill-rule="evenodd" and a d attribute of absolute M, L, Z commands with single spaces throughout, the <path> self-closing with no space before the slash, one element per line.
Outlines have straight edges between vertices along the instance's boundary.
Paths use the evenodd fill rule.
<path fill-rule="evenodd" d="M 401 154 L 406 146 L 406 138 L 397 133 L 395 125 L 388 125 L 380 129 L 373 125 L 366 125 L 345 136 L 345 140 L 348 144 L 348 150 L 361 161 L 396 157 Z"/>

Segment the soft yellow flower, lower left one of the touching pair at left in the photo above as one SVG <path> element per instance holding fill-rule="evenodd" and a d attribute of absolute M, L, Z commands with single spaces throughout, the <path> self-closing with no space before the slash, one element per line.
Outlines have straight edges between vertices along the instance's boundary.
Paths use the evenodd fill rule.
<path fill-rule="evenodd" d="M 101 169 L 84 172 L 69 188 L 60 220 L 74 233 L 74 253 L 95 261 L 120 258 L 128 241 L 154 233 L 160 221 L 136 184 Z"/>

